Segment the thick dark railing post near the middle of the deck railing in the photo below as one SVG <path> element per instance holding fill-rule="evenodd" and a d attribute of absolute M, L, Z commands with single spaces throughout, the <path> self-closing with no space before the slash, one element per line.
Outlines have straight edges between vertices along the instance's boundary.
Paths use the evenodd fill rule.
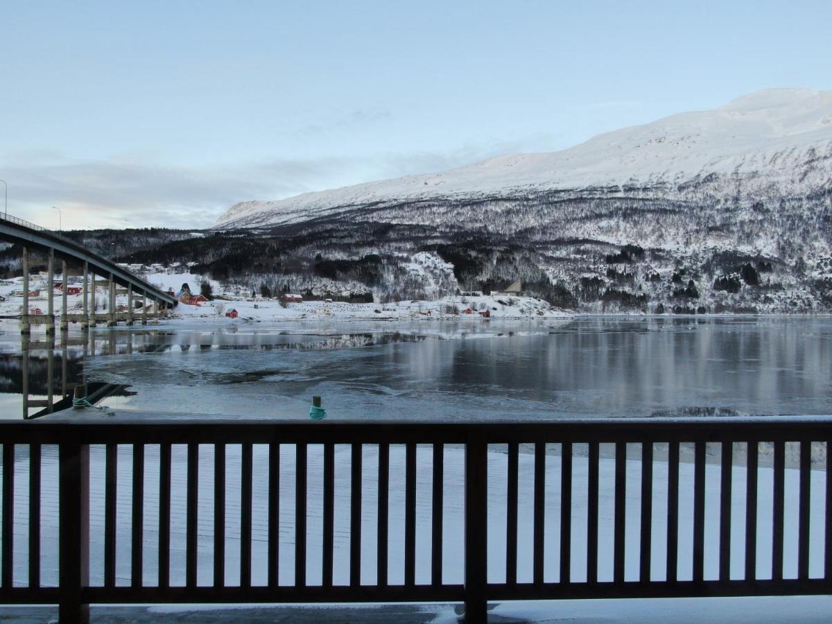
<path fill-rule="evenodd" d="M 488 441 L 473 429 L 465 444 L 465 624 L 488 619 Z"/>

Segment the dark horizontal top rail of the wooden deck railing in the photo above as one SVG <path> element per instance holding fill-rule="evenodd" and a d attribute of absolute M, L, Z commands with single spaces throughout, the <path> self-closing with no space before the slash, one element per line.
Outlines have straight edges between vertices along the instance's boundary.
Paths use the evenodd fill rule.
<path fill-rule="evenodd" d="M 67 415 L 0 422 L 11 443 L 464 443 L 472 436 L 508 442 L 744 442 L 832 439 L 832 416 L 776 418 L 586 418 L 501 422 L 397 422 L 212 418 L 118 418 Z"/>

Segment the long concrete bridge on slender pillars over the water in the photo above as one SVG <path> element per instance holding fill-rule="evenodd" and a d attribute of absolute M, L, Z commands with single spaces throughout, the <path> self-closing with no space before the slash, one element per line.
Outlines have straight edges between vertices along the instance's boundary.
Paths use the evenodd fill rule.
<path fill-rule="evenodd" d="M 33 324 L 46 325 L 47 333 L 55 331 L 55 263 L 61 262 L 63 285 L 61 288 L 60 328 L 68 329 L 70 322 L 81 323 L 86 330 L 104 322 L 111 327 L 124 320 L 126 324 L 135 321 L 136 302 L 141 301 L 141 323 L 146 324 L 148 318 L 148 300 L 151 302 L 151 318 L 164 314 L 165 310 L 175 306 L 175 297 L 159 290 L 146 280 L 133 275 L 126 268 L 117 265 L 102 255 L 92 253 L 76 241 L 70 240 L 51 230 L 42 228 L 29 221 L 18 219 L 12 215 L 0 215 L 0 240 L 5 240 L 22 246 L 22 312 L 20 315 L 20 330 L 22 334 L 29 334 Z M 47 256 L 47 310 L 36 314 L 29 308 L 30 275 L 29 261 L 32 251 Z M 82 312 L 69 314 L 67 308 L 67 285 L 69 283 L 67 269 L 75 266 L 81 270 L 77 275 L 82 284 Z M 97 276 L 103 280 L 97 280 Z M 97 314 L 96 287 L 104 285 L 107 292 L 106 314 Z M 126 289 L 127 305 L 123 314 L 116 310 L 116 286 Z M 160 312 L 161 310 L 161 312 Z"/>

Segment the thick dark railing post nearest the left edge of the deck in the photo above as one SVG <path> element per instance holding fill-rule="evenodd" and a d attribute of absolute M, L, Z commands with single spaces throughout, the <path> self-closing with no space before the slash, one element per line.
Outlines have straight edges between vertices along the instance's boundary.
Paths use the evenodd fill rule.
<path fill-rule="evenodd" d="M 90 621 L 84 602 L 90 562 L 90 447 L 65 440 L 58 450 L 59 622 Z"/>

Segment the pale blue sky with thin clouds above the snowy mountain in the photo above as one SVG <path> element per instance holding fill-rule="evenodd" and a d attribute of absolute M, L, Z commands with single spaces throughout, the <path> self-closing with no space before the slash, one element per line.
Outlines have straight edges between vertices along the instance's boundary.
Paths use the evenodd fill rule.
<path fill-rule="evenodd" d="M 64 230 L 206 228 L 237 201 L 832 89 L 829 0 L 0 0 L 0 16 L 8 212 Z"/>

